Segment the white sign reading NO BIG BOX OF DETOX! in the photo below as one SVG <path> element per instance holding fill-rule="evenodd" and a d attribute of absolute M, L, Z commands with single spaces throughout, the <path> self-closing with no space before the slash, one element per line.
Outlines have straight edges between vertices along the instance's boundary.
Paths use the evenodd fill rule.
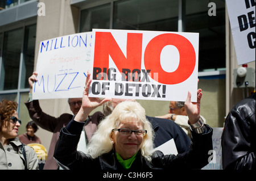
<path fill-rule="evenodd" d="M 196 102 L 199 33 L 96 30 L 89 96 Z"/>

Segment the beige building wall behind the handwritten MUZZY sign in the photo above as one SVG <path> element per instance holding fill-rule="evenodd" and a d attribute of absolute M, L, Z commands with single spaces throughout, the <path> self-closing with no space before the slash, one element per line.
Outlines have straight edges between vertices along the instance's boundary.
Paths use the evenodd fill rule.
<path fill-rule="evenodd" d="M 70 1 L 42 0 L 46 5 L 46 16 L 38 16 L 36 29 L 35 57 L 38 57 L 40 41 L 52 39 L 53 37 L 77 33 L 79 20 L 79 9 L 70 5 Z M 36 58 L 35 68 L 36 70 Z M 42 110 L 51 116 L 58 117 L 62 113 L 71 113 L 68 99 L 39 100 Z M 42 140 L 42 144 L 49 148 L 52 133 L 39 129 L 36 133 Z"/>

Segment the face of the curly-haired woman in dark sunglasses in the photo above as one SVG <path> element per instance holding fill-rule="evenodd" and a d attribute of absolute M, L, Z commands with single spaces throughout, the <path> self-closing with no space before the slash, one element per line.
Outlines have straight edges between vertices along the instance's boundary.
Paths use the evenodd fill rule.
<path fill-rule="evenodd" d="M 13 116 L 19 119 L 18 113 L 16 111 L 13 113 L 13 115 L 11 115 L 11 117 Z M 10 121 L 5 121 L 2 126 L 2 137 L 4 137 L 6 140 L 15 138 L 16 136 L 18 136 L 19 127 L 19 121 L 16 121 L 16 123 L 14 123 L 14 121 L 11 119 Z"/>

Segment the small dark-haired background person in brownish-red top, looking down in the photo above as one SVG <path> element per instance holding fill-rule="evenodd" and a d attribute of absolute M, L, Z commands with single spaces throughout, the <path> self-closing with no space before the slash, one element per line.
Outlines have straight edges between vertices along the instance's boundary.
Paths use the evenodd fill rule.
<path fill-rule="evenodd" d="M 42 144 L 41 139 L 35 135 L 35 132 L 38 131 L 38 125 L 36 125 L 34 121 L 29 121 L 27 123 L 26 131 L 26 133 L 18 136 L 20 142 L 26 145 L 32 143 Z"/>

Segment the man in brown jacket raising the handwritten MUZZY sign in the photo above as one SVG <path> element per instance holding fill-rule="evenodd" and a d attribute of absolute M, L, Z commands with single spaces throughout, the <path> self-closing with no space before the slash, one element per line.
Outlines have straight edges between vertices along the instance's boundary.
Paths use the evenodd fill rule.
<path fill-rule="evenodd" d="M 44 170 L 57 170 L 60 168 L 59 165 L 56 163 L 55 159 L 53 158 L 53 151 L 56 142 L 59 138 L 60 129 L 65 127 L 72 119 L 72 117 L 76 115 L 77 112 L 80 110 L 82 98 L 68 99 L 68 104 L 73 115 L 69 113 L 63 113 L 59 117 L 53 117 L 51 115 L 48 115 L 47 113 L 43 112 L 43 110 L 40 108 L 39 100 L 32 100 L 32 86 L 35 81 L 38 81 L 38 79 L 36 78 L 37 75 L 38 73 L 34 72 L 31 75 L 31 77 L 28 78 L 28 83 L 30 85 L 30 93 L 29 99 L 25 104 L 27 106 L 28 113 L 31 119 L 35 121 L 35 123 L 39 125 L 39 127 L 53 133 L 51 144 L 48 150 L 46 164 L 44 165 Z M 98 123 L 100 123 L 103 117 L 104 115 L 100 111 L 95 112 L 93 115 L 88 115 L 88 117 L 86 117 L 86 124 L 84 126 L 84 136 L 86 142 L 90 140 L 92 134 L 96 131 Z"/>

